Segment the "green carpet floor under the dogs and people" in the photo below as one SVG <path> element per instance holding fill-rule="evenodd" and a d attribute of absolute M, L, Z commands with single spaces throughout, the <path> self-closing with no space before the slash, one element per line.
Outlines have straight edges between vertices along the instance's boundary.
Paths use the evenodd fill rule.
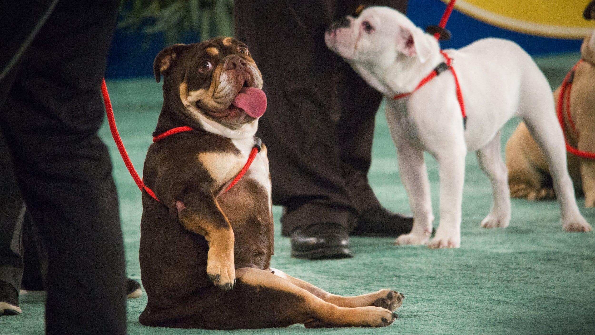
<path fill-rule="evenodd" d="M 552 86 L 558 86 L 577 59 L 578 55 L 572 54 L 540 58 L 538 62 Z M 137 169 L 142 169 L 161 108 L 161 84 L 151 79 L 110 80 L 108 88 L 126 148 Z M 512 120 L 506 125 L 504 140 L 517 123 Z M 407 212 L 408 201 L 383 112 L 378 113 L 376 126 L 371 185 L 385 206 Z M 130 277 L 140 280 L 140 192 L 118 156 L 107 127 L 101 135 L 114 161 L 127 271 Z M 438 171 L 430 156 L 427 163 L 437 224 Z M 595 224 L 595 210 L 584 209 L 583 204 L 580 200 L 585 218 Z M 563 232 L 555 201 L 519 199 L 512 201 L 508 228 L 486 230 L 480 228 L 480 222 L 490 205 L 490 183 L 475 155 L 468 155 L 461 249 L 430 250 L 424 246 L 394 246 L 392 238 L 353 237 L 355 257 L 334 261 L 290 258 L 289 240 L 280 236 L 281 208 L 275 206 L 273 267 L 342 295 L 397 289 L 406 295 L 398 311 L 400 318 L 386 328 L 306 330 L 294 325 L 233 334 L 594 334 L 595 234 Z M 42 333 L 43 300 L 39 296 L 21 297 L 23 314 L 0 318 L 0 334 Z M 137 318 L 145 303 L 146 296 L 128 302 L 130 334 L 223 333 L 143 327 Z"/>

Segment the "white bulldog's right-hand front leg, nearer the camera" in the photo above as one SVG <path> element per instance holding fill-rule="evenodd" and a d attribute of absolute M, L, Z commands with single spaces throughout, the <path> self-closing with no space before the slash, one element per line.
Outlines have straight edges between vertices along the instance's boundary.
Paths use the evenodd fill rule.
<path fill-rule="evenodd" d="M 436 155 L 440 166 L 440 223 L 428 245 L 436 248 L 461 246 L 461 206 L 465 180 L 464 145 Z"/>

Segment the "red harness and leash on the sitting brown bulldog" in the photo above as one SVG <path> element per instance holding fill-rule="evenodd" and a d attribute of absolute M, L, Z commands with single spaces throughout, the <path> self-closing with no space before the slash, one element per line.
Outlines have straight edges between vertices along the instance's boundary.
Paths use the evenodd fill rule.
<path fill-rule="evenodd" d="M 118 147 L 118 151 L 120 151 L 120 156 L 122 156 L 122 160 L 124 161 L 124 164 L 126 164 L 126 168 L 130 172 L 130 176 L 132 176 L 132 179 L 134 179 L 136 186 L 138 186 L 141 191 L 145 190 L 145 192 L 147 192 L 147 194 L 150 195 L 151 198 L 155 199 L 158 202 L 161 202 L 155 195 L 155 192 L 153 192 L 152 189 L 150 189 L 149 187 L 147 187 L 145 185 L 145 183 L 143 183 L 143 180 L 140 179 L 139 174 L 136 172 L 136 170 L 134 170 L 134 166 L 132 165 L 132 162 L 130 161 L 130 157 L 128 156 L 128 154 L 126 152 L 126 148 L 124 148 L 124 143 L 122 143 L 122 139 L 120 138 L 120 134 L 118 133 L 118 128 L 115 126 L 114 109 L 112 109 L 111 101 L 109 100 L 108 88 L 105 85 L 105 79 L 101 83 L 101 93 L 104 96 L 105 113 L 108 116 L 109 130 L 111 130 L 112 137 L 114 137 L 115 145 Z M 167 132 L 163 132 L 163 133 L 158 134 L 157 136 L 153 137 L 153 142 L 154 143 L 158 142 L 162 139 L 165 139 L 165 137 L 171 136 L 173 134 L 190 132 L 191 130 L 194 130 L 194 129 L 187 127 L 187 126 L 176 127 L 174 129 L 170 129 Z M 256 143 L 255 143 L 254 147 L 252 148 L 252 151 L 250 151 L 250 155 L 248 156 L 248 161 L 246 162 L 246 164 L 244 164 L 244 167 L 242 168 L 242 170 L 240 170 L 240 172 L 238 174 L 236 174 L 236 177 L 234 177 L 234 179 L 231 180 L 231 182 L 227 185 L 227 187 L 223 191 L 218 193 L 217 196 L 220 196 L 223 193 L 226 193 L 229 189 L 231 189 L 231 187 L 233 187 L 235 184 L 237 184 L 237 182 L 240 179 L 242 179 L 244 174 L 246 174 L 246 172 L 250 168 L 250 165 L 252 165 L 254 158 L 256 158 L 256 154 L 258 154 L 258 152 L 260 152 L 260 151 L 261 151 L 261 140 L 258 137 L 256 137 Z"/>

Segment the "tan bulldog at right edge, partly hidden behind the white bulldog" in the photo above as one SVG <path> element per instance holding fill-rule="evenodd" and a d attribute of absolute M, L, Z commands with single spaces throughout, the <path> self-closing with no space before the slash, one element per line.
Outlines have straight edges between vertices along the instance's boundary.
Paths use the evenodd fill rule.
<path fill-rule="evenodd" d="M 595 32 L 584 39 L 581 56 L 583 61 L 577 65 L 572 80 L 570 118 L 563 104 L 564 133 L 572 147 L 595 152 Z M 560 87 L 554 92 L 556 106 L 559 95 Z M 543 152 L 525 123 L 519 124 L 506 144 L 506 166 L 512 197 L 529 200 L 555 197 Z M 595 206 L 595 159 L 568 153 L 568 172 L 575 189 L 584 192 L 585 207 Z"/>

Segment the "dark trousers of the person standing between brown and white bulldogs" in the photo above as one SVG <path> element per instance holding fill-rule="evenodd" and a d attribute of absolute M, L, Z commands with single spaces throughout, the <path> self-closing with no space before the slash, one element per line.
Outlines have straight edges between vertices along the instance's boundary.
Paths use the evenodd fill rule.
<path fill-rule="evenodd" d="M 367 1 L 405 12 L 407 0 Z M 273 203 L 282 233 L 315 223 L 352 230 L 379 205 L 368 184 L 374 118 L 382 96 L 324 44 L 324 30 L 362 1 L 236 0 L 236 37 L 264 77 Z"/>

